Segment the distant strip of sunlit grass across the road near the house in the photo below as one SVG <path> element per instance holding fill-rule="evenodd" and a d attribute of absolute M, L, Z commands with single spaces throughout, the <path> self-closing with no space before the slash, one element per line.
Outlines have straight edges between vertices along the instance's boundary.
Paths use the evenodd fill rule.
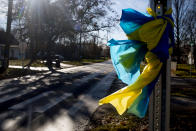
<path fill-rule="evenodd" d="M 22 63 L 24 65 L 27 65 L 30 62 L 30 60 L 10 60 L 9 64 L 14 66 L 22 66 Z M 36 60 L 32 63 L 32 67 L 45 67 L 46 65 L 42 63 L 40 60 Z"/>

